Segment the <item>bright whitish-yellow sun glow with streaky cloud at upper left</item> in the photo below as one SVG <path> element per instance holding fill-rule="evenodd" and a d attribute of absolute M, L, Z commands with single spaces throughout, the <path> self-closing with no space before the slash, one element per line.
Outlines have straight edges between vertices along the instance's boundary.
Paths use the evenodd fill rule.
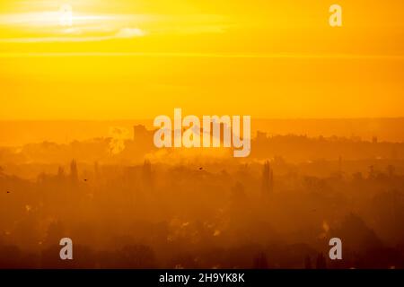
<path fill-rule="evenodd" d="M 77 6 L 77 7 L 76 7 Z M 80 12 L 74 11 L 74 7 Z M 31 11 L 0 13 L 0 42 L 7 44 L 44 44 L 63 42 L 104 42 L 144 37 L 138 27 L 150 17 L 133 13 L 100 13 L 80 4 L 38 6 Z M 92 7 L 91 8 L 96 8 Z M 53 9 L 53 10 L 52 10 Z M 26 46 L 28 47 L 28 46 Z"/>

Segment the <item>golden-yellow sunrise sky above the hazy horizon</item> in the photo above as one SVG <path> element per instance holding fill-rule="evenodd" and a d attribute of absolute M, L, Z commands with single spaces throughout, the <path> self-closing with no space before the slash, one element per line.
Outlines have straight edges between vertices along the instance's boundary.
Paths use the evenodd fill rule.
<path fill-rule="evenodd" d="M 343 27 L 329 26 L 340 4 Z M 0 119 L 404 117 L 401 0 L 3 0 Z"/>

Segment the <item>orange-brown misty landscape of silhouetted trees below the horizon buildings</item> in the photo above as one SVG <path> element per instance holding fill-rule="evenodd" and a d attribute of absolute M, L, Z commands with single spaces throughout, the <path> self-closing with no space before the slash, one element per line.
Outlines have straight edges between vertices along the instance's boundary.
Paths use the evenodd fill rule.
<path fill-rule="evenodd" d="M 2 148 L 0 267 L 404 266 L 403 143 L 259 134 L 240 160 L 144 132 L 119 153 L 110 138 Z"/>

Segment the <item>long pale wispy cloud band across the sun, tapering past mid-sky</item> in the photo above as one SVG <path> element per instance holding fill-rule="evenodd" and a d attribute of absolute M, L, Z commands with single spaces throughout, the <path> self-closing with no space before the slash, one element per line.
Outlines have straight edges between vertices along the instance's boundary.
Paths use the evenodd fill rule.
<path fill-rule="evenodd" d="M 61 25 L 60 12 L 0 14 L 6 33 L 1 43 L 57 43 L 134 39 L 146 35 L 224 33 L 220 16 L 73 13 L 71 25 Z M 11 35 L 11 36 L 10 36 Z M 13 35 L 15 35 L 13 37 Z"/>

